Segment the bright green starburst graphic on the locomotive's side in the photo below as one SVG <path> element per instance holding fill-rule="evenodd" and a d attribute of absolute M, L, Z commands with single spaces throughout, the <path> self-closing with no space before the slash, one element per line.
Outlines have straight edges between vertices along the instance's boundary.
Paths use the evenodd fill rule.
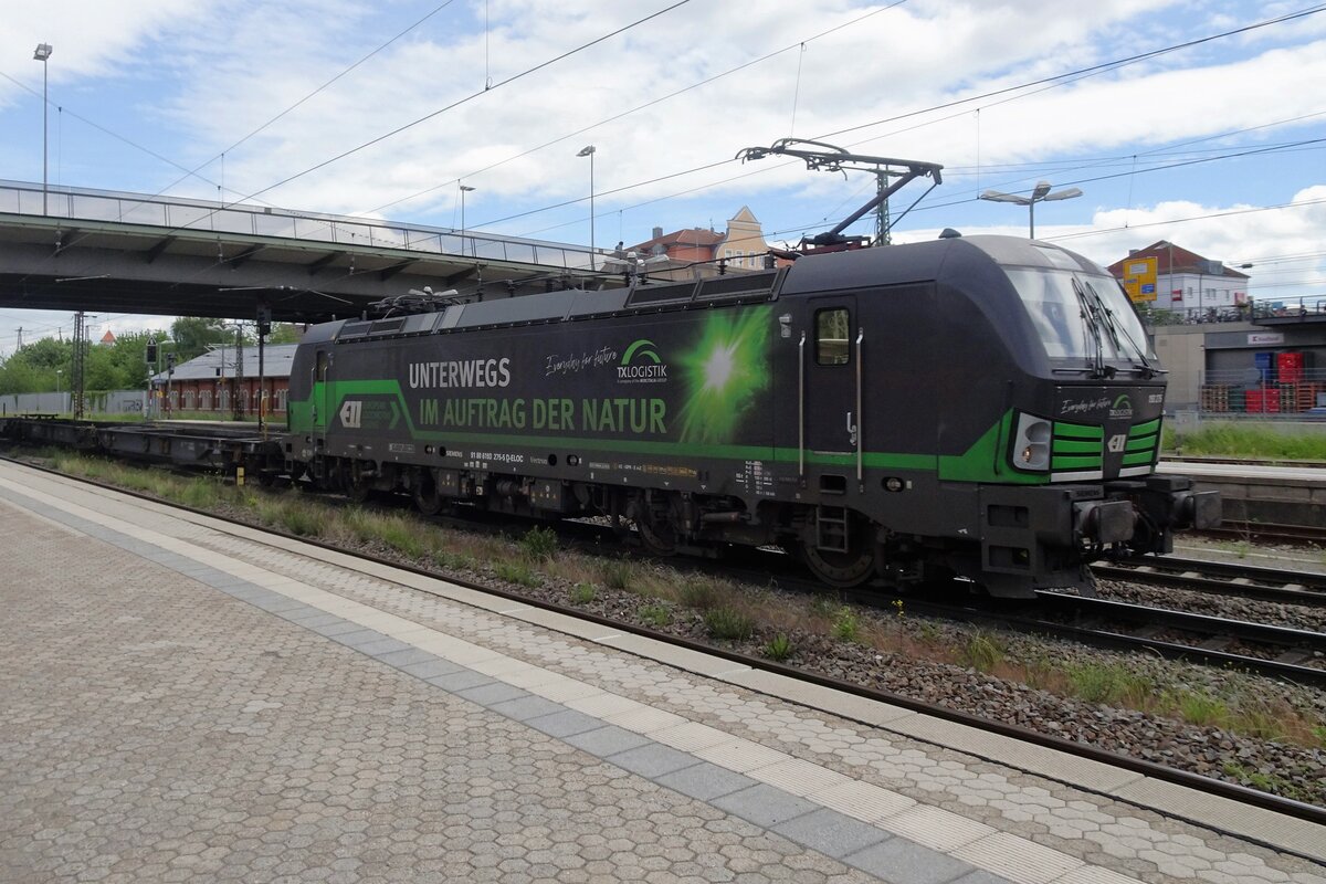
<path fill-rule="evenodd" d="M 695 349 L 683 354 L 682 441 L 727 444 L 736 437 L 756 395 L 769 386 L 772 307 L 709 315 Z"/>

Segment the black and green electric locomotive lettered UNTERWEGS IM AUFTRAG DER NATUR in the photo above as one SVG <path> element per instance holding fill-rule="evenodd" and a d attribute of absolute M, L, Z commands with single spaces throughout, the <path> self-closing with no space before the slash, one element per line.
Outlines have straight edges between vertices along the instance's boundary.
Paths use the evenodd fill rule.
<path fill-rule="evenodd" d="M 835 586 L 1022 596 L 1219 522 L 1155 473 L 1163 400 L 1106 272 L 949 237 L 314 326 L 281 444 L 292 476 L 426 513 L 607 516 L 659 554 L 776 543 Z"/>

